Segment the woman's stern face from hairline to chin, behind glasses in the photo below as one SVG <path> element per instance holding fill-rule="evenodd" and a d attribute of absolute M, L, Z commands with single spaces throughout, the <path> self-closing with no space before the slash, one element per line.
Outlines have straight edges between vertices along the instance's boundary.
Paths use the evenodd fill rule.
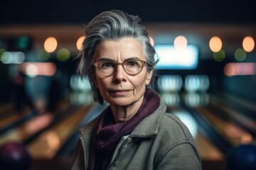
<path fill-rule="evenodd" d="M 105 40 L 97 45 L 95 54 L 95 62 L 122 63 L 127 59 L 146 61 L 142 43 L 134 38 Z M 111 64 L 106 66 L 111 67 Z M 122 65 L 117 65 L 114 74 L 110 76 L 102 76 L 98 70 L 95 74 L 95 85 L 100 89 L 100 94 L 105 101 L 114 106 L 140 103 L 138 101 L 143 100 L 146 85 L 149 84 L 152 76 L 151 72 L 146 71 L 146 64 L 142 65 L 142 72 L 136 75 L 127 74 Z"/>

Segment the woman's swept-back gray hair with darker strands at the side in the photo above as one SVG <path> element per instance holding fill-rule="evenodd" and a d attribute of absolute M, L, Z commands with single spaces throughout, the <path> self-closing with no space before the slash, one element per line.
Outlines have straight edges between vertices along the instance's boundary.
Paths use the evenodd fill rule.
<path fill-rule="evenodd" d="M 119 40 L 121 38 L 134 38 L 142 42 L 144 55 L 146 56 L 147 72 L 154 71 L 158 59 L 154 58 L 155 50 L 150 44 L 149 34 L 144 26 L 140 24 L 138 16 L 128 15 L 122 11 L 104 11 L 92 19 L 85 29 L 85 40 L 82 43 L 82 50 L 78 55 L 78 74 L 88 76 L 94 99 L 100 104 L 103 98 L 100 90 L 94 84 L 95 80 L 95 50 L 100 42 L 105 40 Z M 154 76 L 151 82 L 154 81 Z M 152 84 L 152 83 L 151 83 Z"/>

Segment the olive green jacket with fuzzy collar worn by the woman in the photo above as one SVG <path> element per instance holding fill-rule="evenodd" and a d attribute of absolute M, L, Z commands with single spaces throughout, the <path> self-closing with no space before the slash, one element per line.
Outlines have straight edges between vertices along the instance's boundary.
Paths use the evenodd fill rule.
<path fill-rule="evenodd" d="M 97 119 L 80 130 L 72 170 L 88 168 L 90 141 Z M 175 115 L 166 113 L 161 101 L 154 113 L 142 120 L 115 149 L 107 169 L 201 169 L 201 159 L 191 133 Z"/>

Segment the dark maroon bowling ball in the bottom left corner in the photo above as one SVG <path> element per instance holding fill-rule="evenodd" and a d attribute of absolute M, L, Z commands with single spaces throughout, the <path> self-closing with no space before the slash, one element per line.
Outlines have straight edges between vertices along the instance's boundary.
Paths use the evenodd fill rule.
<path fill-rule="evenodd" d="M 30 166 L 31 155 L 22 144 L 7 142 L 0 146 L 0 169 L 28 170 Z"/>

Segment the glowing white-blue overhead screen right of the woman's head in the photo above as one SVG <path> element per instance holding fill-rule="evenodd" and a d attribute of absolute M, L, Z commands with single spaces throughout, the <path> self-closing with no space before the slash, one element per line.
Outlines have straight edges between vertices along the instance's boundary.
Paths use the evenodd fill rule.
<path fill-rule="evenodd" d="M 156 69 L 196 69 L 198 66 L 198 47 L 187 45 L 176 49 L 174 45 L 154 45 L 159 62 Z"/>

